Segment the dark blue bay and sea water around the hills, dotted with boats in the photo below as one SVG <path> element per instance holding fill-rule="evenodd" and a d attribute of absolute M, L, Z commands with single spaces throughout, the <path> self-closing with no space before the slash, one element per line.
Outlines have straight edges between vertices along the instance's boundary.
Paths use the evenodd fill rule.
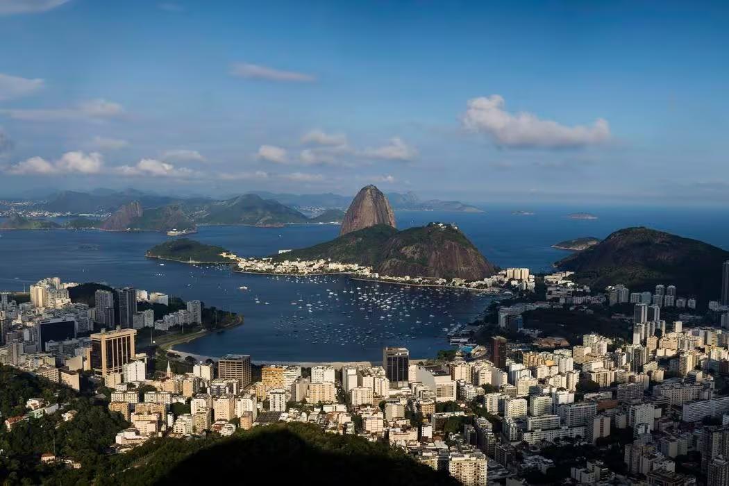
<path fill-rule="evenodd" d="M 453 222 L 495 264 L 535 271 L 548 269 L 566 254 L 550 248 L 553 243 L 604 238 L 628 226 L 654 227 L 729 248 L 729 210 L 591 208 L 599 219 L 590 221 L 564 217 L 585 208 L 535 211 L 534 216 L 515 216 L 510 208 L 498 207 L 479 214 L 399 212 L 397 224 Z M 331 225 L 201 227 L 192 238 L 241 255 L 263 256 L 329 240 L 338 230 Z M 489 297 L 469 292 L 405 289 L 340 277 L 243 275 L 187 264 L 160 266 L 144 258 L 149 247 L 167 239 L 154 232 L 0 232 L 0 289 L 23 290 L 40 278 L 58 275 L 64 281 L 132 285 L 202 299 L 243 313 L 246 324 L 179 349 L 210 356 L 249 353 L 257 361 L 377 360 L 383 345 L 406 345 L 413 356 L 432 356 L 447 348 L 445 328 L 472 320 L 489 302 Z"/>

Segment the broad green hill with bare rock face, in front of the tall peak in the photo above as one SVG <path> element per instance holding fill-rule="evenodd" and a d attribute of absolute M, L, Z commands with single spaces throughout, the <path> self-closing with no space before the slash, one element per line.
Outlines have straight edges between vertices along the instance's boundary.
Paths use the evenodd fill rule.
<path fill-rule="evenodd" d="M 464 278 L 493 275 L 494 265 L 451 224 L 431 223 L 397 231 L 378 224 L 309 248 L 276 255 L 274 259 L 331 259 L 359 263 L 394 277 Z"/>

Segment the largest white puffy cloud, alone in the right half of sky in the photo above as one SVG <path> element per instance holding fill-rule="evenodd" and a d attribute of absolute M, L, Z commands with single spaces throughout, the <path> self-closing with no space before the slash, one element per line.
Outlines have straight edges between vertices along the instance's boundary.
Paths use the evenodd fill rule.
<path fill-rule="evenodd" d="M 555 149 L 599 144 L 610 138 L 609 125 L 602 118 L 591 126 L 568 127 L 531 113 L 511 114 L 504 110 L 504 98 L 499 95 L 473 98 L 467 106 L 461 120 L 464 127 L 486 133 L 503 146 Z"/>

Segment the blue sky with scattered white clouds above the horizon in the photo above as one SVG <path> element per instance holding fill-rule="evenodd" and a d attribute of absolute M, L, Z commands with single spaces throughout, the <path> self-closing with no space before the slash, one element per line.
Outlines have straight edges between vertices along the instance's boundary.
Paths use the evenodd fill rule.
<path fill-rule="evenodd" d="M 0 0 L 0 197 L 729 202 L 729 4 Z"/>

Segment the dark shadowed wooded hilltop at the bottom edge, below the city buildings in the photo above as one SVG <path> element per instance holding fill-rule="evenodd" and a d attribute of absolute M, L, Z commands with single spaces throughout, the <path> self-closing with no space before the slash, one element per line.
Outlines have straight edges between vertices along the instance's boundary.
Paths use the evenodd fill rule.
<path fill-rule="evenodd" d="M 162 439 L 144 445 L 140 466 L 114 477 L 125 485 L 211 484 L 215 478 L 268 478 L 276 485 L 458 485 L 404 452 L 361 437 L 325 434 L 311 424 L 258 427 L 226 439 Z M 161 444 L 160 444 L 161 442 Z"/>

